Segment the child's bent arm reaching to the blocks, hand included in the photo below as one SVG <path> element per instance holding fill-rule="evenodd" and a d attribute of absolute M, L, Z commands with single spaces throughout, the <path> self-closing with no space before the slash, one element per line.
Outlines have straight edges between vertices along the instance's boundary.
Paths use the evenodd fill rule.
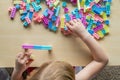
<path fill-rule="evenodd" d="M 108 58 L 97 41 L 85 30 L 80 20 L 70 21 L 66 25 L 85 42 L 93 57 L 93 60 L 76 75 L 76 80 L 92 79 L 108 63 Z"/>

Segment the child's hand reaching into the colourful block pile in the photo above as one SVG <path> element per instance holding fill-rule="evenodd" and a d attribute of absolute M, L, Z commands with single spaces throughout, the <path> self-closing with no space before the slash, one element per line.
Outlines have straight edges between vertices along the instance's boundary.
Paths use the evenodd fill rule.
<path fill-rule="evenodd" d="M 84 25 L 81 23 L 80 19 L 71 20 L 69 23 L 66 23 L 66 26 L 76 35 L 84 39 L 89 35 L 86 31 Z"/>

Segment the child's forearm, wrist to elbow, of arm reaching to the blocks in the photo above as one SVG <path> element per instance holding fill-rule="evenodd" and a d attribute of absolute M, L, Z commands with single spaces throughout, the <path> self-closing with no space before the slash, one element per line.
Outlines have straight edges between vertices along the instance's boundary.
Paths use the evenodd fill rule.
<path fill-rule="evenodd" d="M 93 59 L 95 61 L 104 63 L 107 62 L 108 58 L 105 54 L 105 51 L 87 31 L 80 35 L 80 37 L 90 49 Z"/>

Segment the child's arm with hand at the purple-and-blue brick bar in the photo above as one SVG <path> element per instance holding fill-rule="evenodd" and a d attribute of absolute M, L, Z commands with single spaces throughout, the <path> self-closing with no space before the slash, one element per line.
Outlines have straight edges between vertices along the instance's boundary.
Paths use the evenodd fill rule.
<path fill-rule="evenodd" d="M 33 59 L 30 58 L 30 55 L 31 53 L 28 50 L 26 50 L 24 53 L 18 54 L 11 80 L 23 80 L 22 73 L 33 62 Z"/>

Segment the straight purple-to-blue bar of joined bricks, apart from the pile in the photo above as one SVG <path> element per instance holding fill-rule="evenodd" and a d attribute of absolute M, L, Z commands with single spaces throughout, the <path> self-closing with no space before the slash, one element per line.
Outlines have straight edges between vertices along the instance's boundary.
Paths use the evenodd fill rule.
<path fill-rule="evenodd" d="M 51 45 L 32 45 L 32 44 L 23 44 L 23 49 L 35 49 L 35 50 L 52 50 Z"/>

